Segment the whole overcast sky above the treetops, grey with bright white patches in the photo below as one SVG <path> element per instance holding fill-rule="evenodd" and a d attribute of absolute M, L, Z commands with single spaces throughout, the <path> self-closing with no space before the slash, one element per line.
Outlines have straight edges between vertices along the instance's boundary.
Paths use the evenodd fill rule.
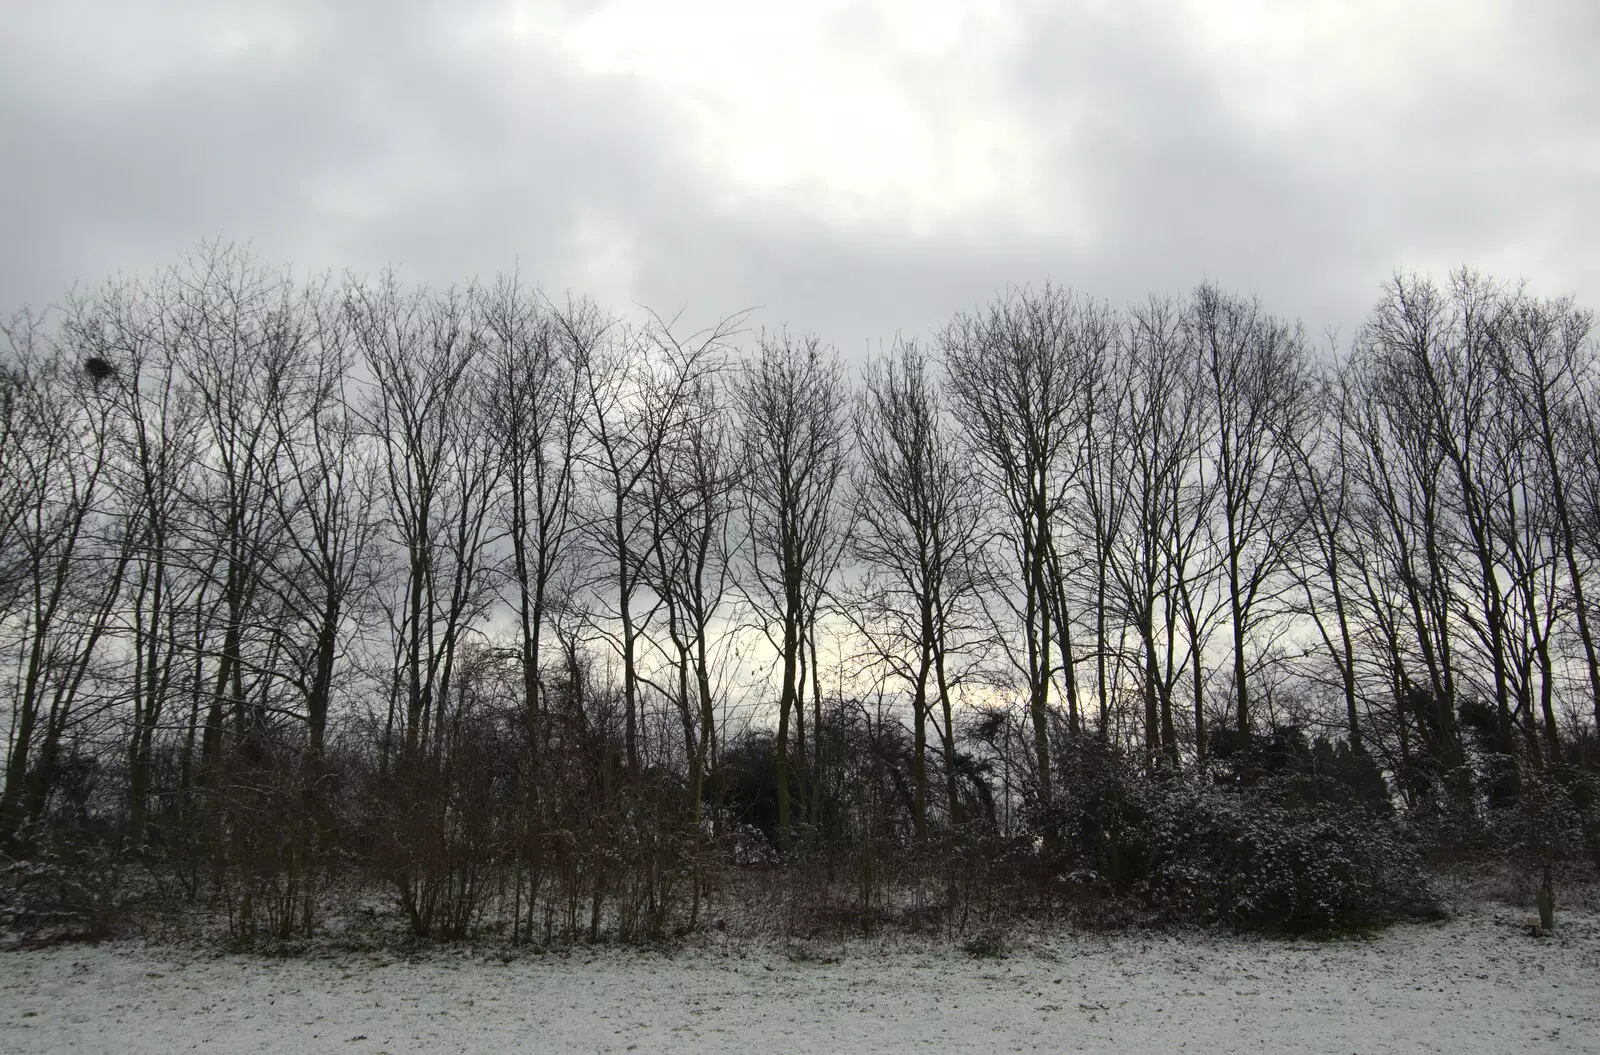
<path fill-rule="evenodd" d="M 208 235 L 755 307 L 846 354 L 1008 285 L 1347 335 L 1394 269 L 1600 304 L 1592 0 L 0 0 L 0 309 Z"/>

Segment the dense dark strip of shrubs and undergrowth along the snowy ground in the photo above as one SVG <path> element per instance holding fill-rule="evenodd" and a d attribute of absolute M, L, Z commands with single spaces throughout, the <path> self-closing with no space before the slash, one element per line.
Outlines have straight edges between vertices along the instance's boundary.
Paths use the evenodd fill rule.
<path fill-rule="evenodd" d="M 702 831 L 613 829 L 611 845 L 552 853 L 538 884 L 517 874 L 498 824 L 459 815 L 421 828 L 398 864 L 398 836 L 384 828 L 394 816 L 378 804 L 330 812 L 310 852 L 293 824 L 274 831 L 254 815 L 250 832 L 184 861 L 130 853 L 117 818 L 85 802 L 53 813 L 29 853 L 0 864 L 0 925 L 11 945 L 146 935 L 278 953 L 902 932 L 987 956 L 1034 924 L 1344 933 L 1445 913 L 1445 872 L 1515 876 L 1501 897 L 1530 905 L 1544 864 L 1563 884 L 1590 882 L 1594 784 L 1582 770 L 1523 780 L 1515 800 L 1493 807 L 1478 796 L 1466 808 L 1402 808 L 1371 760 L 1294 730 L 1184 772 L 1149 775 L 1096 740 L 1069 743 L 1061 762 L 1056 800 L 1040 808 L 1022 796 L 1010 832 L 974 818 L 918 840 L 893 823 L 893 802 L 874 828 L 842 799 L 818 810 L 832 829 L 800 826 L 786 850 L 770 828 L 770 789 L 718 773 L 726 797 Z M 493 820 L 514 805 L 483 808 Z M 426 820 L 414 812 L 408 823 Z M 243 847 L 254 856 L 229 858 Z"/>

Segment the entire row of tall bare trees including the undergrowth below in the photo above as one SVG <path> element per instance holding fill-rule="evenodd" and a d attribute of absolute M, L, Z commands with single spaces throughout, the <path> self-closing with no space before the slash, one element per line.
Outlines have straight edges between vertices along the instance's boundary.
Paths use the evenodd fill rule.
<path fill-rule="evenodd" d="M 1600 861 L 1568 299 L 1397 275 L 1318 347 L 1045 287 L 848 371 L 213 245 L 3 335 L 14 921 L 653 940 L 757 869 L 798 927 L 1288 924 Z"/>

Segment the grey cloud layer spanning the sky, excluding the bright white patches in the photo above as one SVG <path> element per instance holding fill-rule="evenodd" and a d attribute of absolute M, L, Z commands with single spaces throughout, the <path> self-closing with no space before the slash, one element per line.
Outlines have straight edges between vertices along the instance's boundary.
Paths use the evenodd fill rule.
<path fill-rule="evenodd" d="M 166 10 L 157 24 L 181 26 L 184 10 Z M 811 328 L 846 352 L 1046 279 L 1128 301 L 1211 277 L 1314 331 L 1349 330 L 1394 267 L 1472 261 L 1600 295 L 1600 173 L 1584 146 L 1600 142 L 1600 99 L 1582 72 L 1600 22 L 1587 5 L 1530 22 L 1486 56 L 1506 69 L 1482 78 L 1440 74 L 1394 107 L 1270 130 L 1230 106 L 1152 8 L 1024 6 L 1006 98 L 1045 147 L 1034 179 L 1085 195 L 1083 239 L 1048 224 L 912 235 L 731 199 L 646 85 L 469 32 L 490 6 L 277 10 L 294 27 L 283 53 L 176 46 L 165 69 L 125 82 L 83 66 L 104 54 L 93 37 L 13 35 L 50 42 L 27 54 L 0 45 L 13 158 L 0 168 L 0 303 L 158 266 L 219 232 L 299 267 L 395 263 L 448 283 L 518 266 L 547 290 L 586 291 L 581 216 L 627 234 L 630 296 L 693 320 L 758 307 L 757 323 Z M 133 24 L 125 13 L 102 30 L 154 46 Z M 1522 69 L 1538 77 L 1507 91 Z"/>

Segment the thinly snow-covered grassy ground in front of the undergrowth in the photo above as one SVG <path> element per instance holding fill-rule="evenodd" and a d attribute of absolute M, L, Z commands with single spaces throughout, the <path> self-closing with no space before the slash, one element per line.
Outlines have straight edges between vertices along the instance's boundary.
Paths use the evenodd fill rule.
<path fill-rule="evenodd" d="M 1600 914 L 1542 940 L 1520 922 L 1019 937 L 1000 961 L 904 943 L 419 962 L 59 946 L 0 953 L 0 1050 L 1600 1052 Z"/>

